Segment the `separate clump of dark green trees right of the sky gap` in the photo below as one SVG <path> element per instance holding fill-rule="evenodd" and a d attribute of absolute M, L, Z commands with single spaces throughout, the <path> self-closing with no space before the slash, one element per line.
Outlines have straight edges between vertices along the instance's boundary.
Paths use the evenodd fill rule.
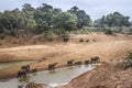
<path fill-rule="evenodd" d="M 106 16 L 103 15 L 101 19 L 96 20 L 95 24 L 100 28 L 107 25 L 109 28 L 119 26 L 121 29 L 122 26 L 131 25 L 129 19 L 130 19 L 129 16 L 124 16 L 119 12 L 113 12 Z"/>

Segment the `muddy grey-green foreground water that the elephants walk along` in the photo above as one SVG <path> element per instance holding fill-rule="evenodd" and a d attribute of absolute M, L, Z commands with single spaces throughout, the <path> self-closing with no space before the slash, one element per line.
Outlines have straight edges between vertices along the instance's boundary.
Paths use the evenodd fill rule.
<path fill-rule="evenodd" d="M 37 84 L 46 84 L 52 87 L 55 87 L 58 85 L 67 84 L 73 78 L 92 68 L 94 66 L 91 65 L 88 66 L 80 65 L 80 66 L 57 68 L 54 72 L 50 72 L 50 70 L 38 72 L 36 74 L 29 75 L 29 82 L 34 81 Z M 14 78 L 2 82 L 0 81 L 0 88 L 18 88 L 18 86 L 23 84 L 24 82 L 20 82 L 16 78 Z"/>

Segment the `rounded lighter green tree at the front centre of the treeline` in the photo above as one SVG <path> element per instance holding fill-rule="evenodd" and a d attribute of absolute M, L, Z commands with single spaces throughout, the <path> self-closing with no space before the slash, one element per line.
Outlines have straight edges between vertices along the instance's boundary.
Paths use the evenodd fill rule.
<path fill-rule="evenodd" d="M 65 31 L 72 31 L 76 29 L 76 21 L 74 15 L 69 12 L 62 12 L 57 15 L 53 15 L 52 24 L 54 28 L 65 29 Z"/>

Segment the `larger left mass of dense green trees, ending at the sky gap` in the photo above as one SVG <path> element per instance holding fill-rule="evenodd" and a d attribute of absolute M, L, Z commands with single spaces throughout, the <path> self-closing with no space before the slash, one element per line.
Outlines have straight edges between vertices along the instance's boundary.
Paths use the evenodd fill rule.
<path fill-rule="evenodd" d="M 15 36 L 18 31 L 25 30 L 34 33 L 47 33 L 48 31 L 73 31 L 84 25 L 89 25 L 90 18 L 84 10 L 63 12 L 62 9 L 42 3 L 34 9 L 25 3 L 22 10 L 14 9 L 0 13 L 0 34 L 6 33 Z M 76 15 L 75 15 L 76 14 Z"/>

